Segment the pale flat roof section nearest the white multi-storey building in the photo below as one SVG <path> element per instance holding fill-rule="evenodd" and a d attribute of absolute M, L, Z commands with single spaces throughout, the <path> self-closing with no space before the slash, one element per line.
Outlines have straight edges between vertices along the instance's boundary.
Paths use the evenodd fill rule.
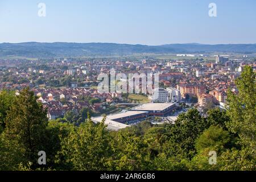
<path fill-rule="evenodd" d="M 136 106 L 136 107 L 132 108 L 131 110 L 162 111 L 164 109 L 167 109 L 168 107 L 171 107 L 172 105 L 175 105 L 175 104 L 174 103 L 148 103 L 148 104 Z"/>

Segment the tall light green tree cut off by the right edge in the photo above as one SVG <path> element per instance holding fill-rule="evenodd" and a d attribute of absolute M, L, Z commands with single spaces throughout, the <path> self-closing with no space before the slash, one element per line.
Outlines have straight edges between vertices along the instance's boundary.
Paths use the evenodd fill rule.
<path fill-rule="evenodd" d="M 243 146 L 256 148 L 256 85 L 253 68 L 246 66 L 236 80 L 238 94 L 228 92 L 227 114 L 230 121 L 226 126 L 237 133 Z"/>

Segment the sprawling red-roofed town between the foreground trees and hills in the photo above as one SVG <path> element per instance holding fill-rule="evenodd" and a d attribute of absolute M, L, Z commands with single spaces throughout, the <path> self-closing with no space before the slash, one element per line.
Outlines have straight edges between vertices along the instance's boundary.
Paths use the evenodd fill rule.
<path fill-rule="evenodd" d="M 47 108 L 49 120 L 60 119 L 79 125 L 87 113 L 94 122 L 107 115 L 108 129 L 119 130 L 147 120 L 173 123 L 177 115 L 196 108 L 201 115 L 214 107 L 225 109 L 228 89 L 237 92 L 234 80 L 245 65 L 256 68 L 251 55 L 123 56 L 57 59 L 0 60 L 0 89 L 19 94 L 29 87 Z M 105 92 L 98 90 L 98 75 L 158 75 L 159 88 L 152 93 Z M 115 77 L 114 75 L 114 77 Z M 148 81 L 148 80 L 147 80 Z M 153 78 L 154 82 L 154 78 Z M 117 81 L 110 81 L 118 85 Z M 154 86 L 153 86 L 154 87 Z M 157 97 L 154 97 L 154 96 Z"/>

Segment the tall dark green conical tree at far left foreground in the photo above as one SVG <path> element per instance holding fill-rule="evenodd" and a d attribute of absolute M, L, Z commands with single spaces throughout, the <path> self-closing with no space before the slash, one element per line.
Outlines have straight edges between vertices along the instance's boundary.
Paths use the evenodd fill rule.
<path fill-rule="evenodd" d="M 18 141 L 27 159 L 36 162 L 38 152 L 44 149 L 47 122 L 47 110 L 36 101 L 34 92 L 25 88 L 7 111 L 6 138 Z"/>

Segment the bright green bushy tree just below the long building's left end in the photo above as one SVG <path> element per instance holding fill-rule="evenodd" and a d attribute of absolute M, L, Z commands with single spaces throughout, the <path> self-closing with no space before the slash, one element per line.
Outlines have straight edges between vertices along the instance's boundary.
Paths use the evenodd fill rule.
<path fill-rule="evenodd" d="M 67 164 L 79 171 L 108 169 L 109 141 L 105 125 L 93 123 L 88 114 L 87 122 L 75 127 L 67 138 L 61 139 L 61 151 Z"/>

